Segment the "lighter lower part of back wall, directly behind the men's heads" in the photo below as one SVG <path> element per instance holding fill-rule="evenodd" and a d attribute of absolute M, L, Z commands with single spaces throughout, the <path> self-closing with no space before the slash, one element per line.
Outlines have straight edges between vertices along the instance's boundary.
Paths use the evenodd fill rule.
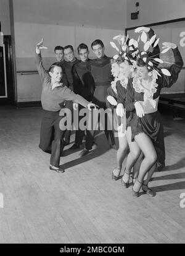
<path fill-rule="evenodd" d="M 76 47 L 86 43 L 91 48 L 91 42 L 100 38 L 105 44 L 105 54 L 113 56 L 115 51 L 110 46 L 112 37 L 123 33 L 123 30 L 97 29 L 92 27 L 72 27 L 61 25 L 30 24 L 15 22 L 15 52 L 17 68 L 17 102 L 39 101 L 41 97 L 41 81 L 36 71 L 35 44 L 44 38 L 48 50 L 42 51 L 43 64 L 49 68 L 55 61 L 54 46 L 71 44 Z M 90 49 L 90 58 L 94 58 Z M 20 73 L 20 71 L 23 71 Z"/>

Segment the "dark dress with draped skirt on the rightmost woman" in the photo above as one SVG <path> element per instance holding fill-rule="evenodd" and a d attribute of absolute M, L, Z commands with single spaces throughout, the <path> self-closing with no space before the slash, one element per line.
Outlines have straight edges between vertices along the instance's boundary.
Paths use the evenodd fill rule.
<path fill-rule="evenodd" d="M 178 74 L 183 67 L 183 60 L 178 48 L 172 50 L 175 58 L 175 64 L 173 64 L 169 71 L 171 76 L 157 77 L 154 87 L 152 99 L 157 99 L 160 95 L 160 90 L 163 87 L 171 87 L 178 79 Z M 144 101 L 144 92 L 141 92 L 142 87 L 138 83 L 137 77 L 133 77 L 128 81 L 125 108 L 126 111 L 130 111 L 130 117 L 128 118 L 128 126 L 131 126 L 132 141 L 134 137 L 139 133 L 146 133 L 153 143 L 157 152 L 157 166 L 165 166 L 165 145 L 163 140 L 163 127 L 160 113 L 158 110 L 154 113 L 146 113 L 144 117 L 139 118 L 136 115 L 134 103 L 136 101 Z"/>

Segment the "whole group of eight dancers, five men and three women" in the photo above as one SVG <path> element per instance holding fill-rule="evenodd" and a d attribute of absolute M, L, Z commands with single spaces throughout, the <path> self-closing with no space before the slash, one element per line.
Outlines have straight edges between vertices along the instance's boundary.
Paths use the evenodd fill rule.
<path fill-rule="evenodd" d="M 122 122 L 118 121 L 119 148 L 112 179 L 120 178 L 126 158 L 122 187 L 129 187 L 133 170 L 133 196 L 138 197 L 141 188 L 147 195 L 155 196 L 148 183 L 156 168 L 162 170 L 165 167 L 165 144 L 162 120 L 157 110 L 158 99 L 163 87 L 170 87 L 177 81 L 183 60 L 174 43 L 162 43 L 163 50 L 160 52 L 159 38 L 154 30 L 139 27 L 135 32 L 139 33 L 138 40 L 125 35 L 113 38 L 117 42 L 110 42 L 117 50 L 113 58 L 104 54 L 101 40 L 91 44 L 97 57 L 94 60 L 89 60 L 88 46 L 84 43 L 78 46 L 80 61 L 75 58 L 73 47 L 65 46 L 63 55 L 68 62 L 62 60 L 61 65 L 59 62 L 62 61 L 58 61 L 52 64 L 49 71 L 44 69 L 41 59 L 41 49 L 46 48 L 43 40 L 36 45 L 36 65 L 43 83 L 41 102 L 44 109 L 39 147 L 44 152 L 51 152 L 49 168 L 64 172 L 59 165 L 60 155 L 69 143 L 70 131 L 59 128 L 63 118 L 59 115 L 61 106 L 71 112 L 74 111 L 73 102 L 89 108 L 89 111 L 96 107 L 109 108 L 110 111 L 116 108 L 118 120 Z M 174 63 L 168 69 L 160 58 L 167 51 L 171 51 L 174 56 Z M 126 120 L 124 130 L 120 129 L 123 128 L 123 120 Z M 92 148 L 94 134 L 95 130 L 86 130 L 86 142 L 80 156 L 85 156 Z M 105 135 L 110 147 L 115 148 L 113 131 L 107 128 L 107 121 Z M 76 131 L 72 150 L 80 148 L 83 136 L 84 131 Z"/>

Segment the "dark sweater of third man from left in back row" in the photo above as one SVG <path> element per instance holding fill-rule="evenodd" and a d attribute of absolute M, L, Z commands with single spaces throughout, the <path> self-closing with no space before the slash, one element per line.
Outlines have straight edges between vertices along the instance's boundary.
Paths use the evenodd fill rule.
<path fill-rule="evenodd" d="M 95 83 L 90 71 L 90 60 L 80 61 L 73 68 L 75 76 L 75 93 L 91 101 L 94 95 Z"/>

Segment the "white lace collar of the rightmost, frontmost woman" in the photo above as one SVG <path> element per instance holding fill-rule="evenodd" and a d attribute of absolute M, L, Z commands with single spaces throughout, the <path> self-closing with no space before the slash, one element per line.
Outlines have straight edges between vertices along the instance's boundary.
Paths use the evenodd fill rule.
<path fill-rule="evenodd" d="M 147 90 L 142 86 L 141 81 L 139 80 L 139 77 L 135 75 L 133 77 L 133 88 L 136 92 L 144 93 L 144 101 L 146 101 L 147 99 L 153 99 L 155 92 L 157 92 L 157 86 L 158 86 L 158 84 L 156 83 L 156 80 L 157 80 L 157 74 L 153 73 L 150 90 Z"/>

